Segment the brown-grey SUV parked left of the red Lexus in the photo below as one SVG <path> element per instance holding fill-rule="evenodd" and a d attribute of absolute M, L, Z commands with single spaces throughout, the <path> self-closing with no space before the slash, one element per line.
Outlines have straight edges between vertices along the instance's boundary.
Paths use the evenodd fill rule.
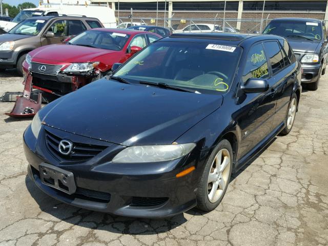
<path fill-rule="evenodd" d="M 23 20 L 0 35 L 0 70 L 16 68 L 22 74 L 26 54 L 40 46 L 63 43 L 85 30 L 104 27 L 97 18 L 37 16 Z"/>

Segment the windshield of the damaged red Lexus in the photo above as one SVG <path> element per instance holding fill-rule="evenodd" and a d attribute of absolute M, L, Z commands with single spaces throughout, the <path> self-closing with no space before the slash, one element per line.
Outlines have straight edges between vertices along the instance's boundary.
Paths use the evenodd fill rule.
<path fill-rule="evenodd" d="M 130 35 L 118 32 L 90 30 L 70 40 L 70 45 L 88 46 L 106 50 L 121 50 Z"/>

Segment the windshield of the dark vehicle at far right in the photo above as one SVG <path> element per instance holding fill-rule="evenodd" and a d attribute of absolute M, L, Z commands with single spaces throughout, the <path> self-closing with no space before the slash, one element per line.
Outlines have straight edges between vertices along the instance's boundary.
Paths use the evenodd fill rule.
<path fill-rule="evenodd" d="M 263 33 L 311 40 L 321 40 L 322 37 L 321 24 L 316 22 L 271 22 Z"/>

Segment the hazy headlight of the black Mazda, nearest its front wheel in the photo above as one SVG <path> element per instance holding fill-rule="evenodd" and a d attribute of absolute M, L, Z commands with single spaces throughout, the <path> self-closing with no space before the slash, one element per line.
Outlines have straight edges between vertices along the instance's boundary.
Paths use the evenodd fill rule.
<path fill-rule="evenodd" d="M 178 159 L 190 153 L 196 144 L 132 146 L 119 152 L 113 162 L 156 162 Z"/>

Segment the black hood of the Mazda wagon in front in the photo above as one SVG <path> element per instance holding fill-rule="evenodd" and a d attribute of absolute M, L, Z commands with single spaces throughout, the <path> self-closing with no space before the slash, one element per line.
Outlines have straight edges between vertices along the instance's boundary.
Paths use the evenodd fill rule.
<path fill-rule="evenodd" d="M 39 111 L 45 125 L 124 146 L 172 144 L 222 104 L 196 94 L 99 79 Z"/>

